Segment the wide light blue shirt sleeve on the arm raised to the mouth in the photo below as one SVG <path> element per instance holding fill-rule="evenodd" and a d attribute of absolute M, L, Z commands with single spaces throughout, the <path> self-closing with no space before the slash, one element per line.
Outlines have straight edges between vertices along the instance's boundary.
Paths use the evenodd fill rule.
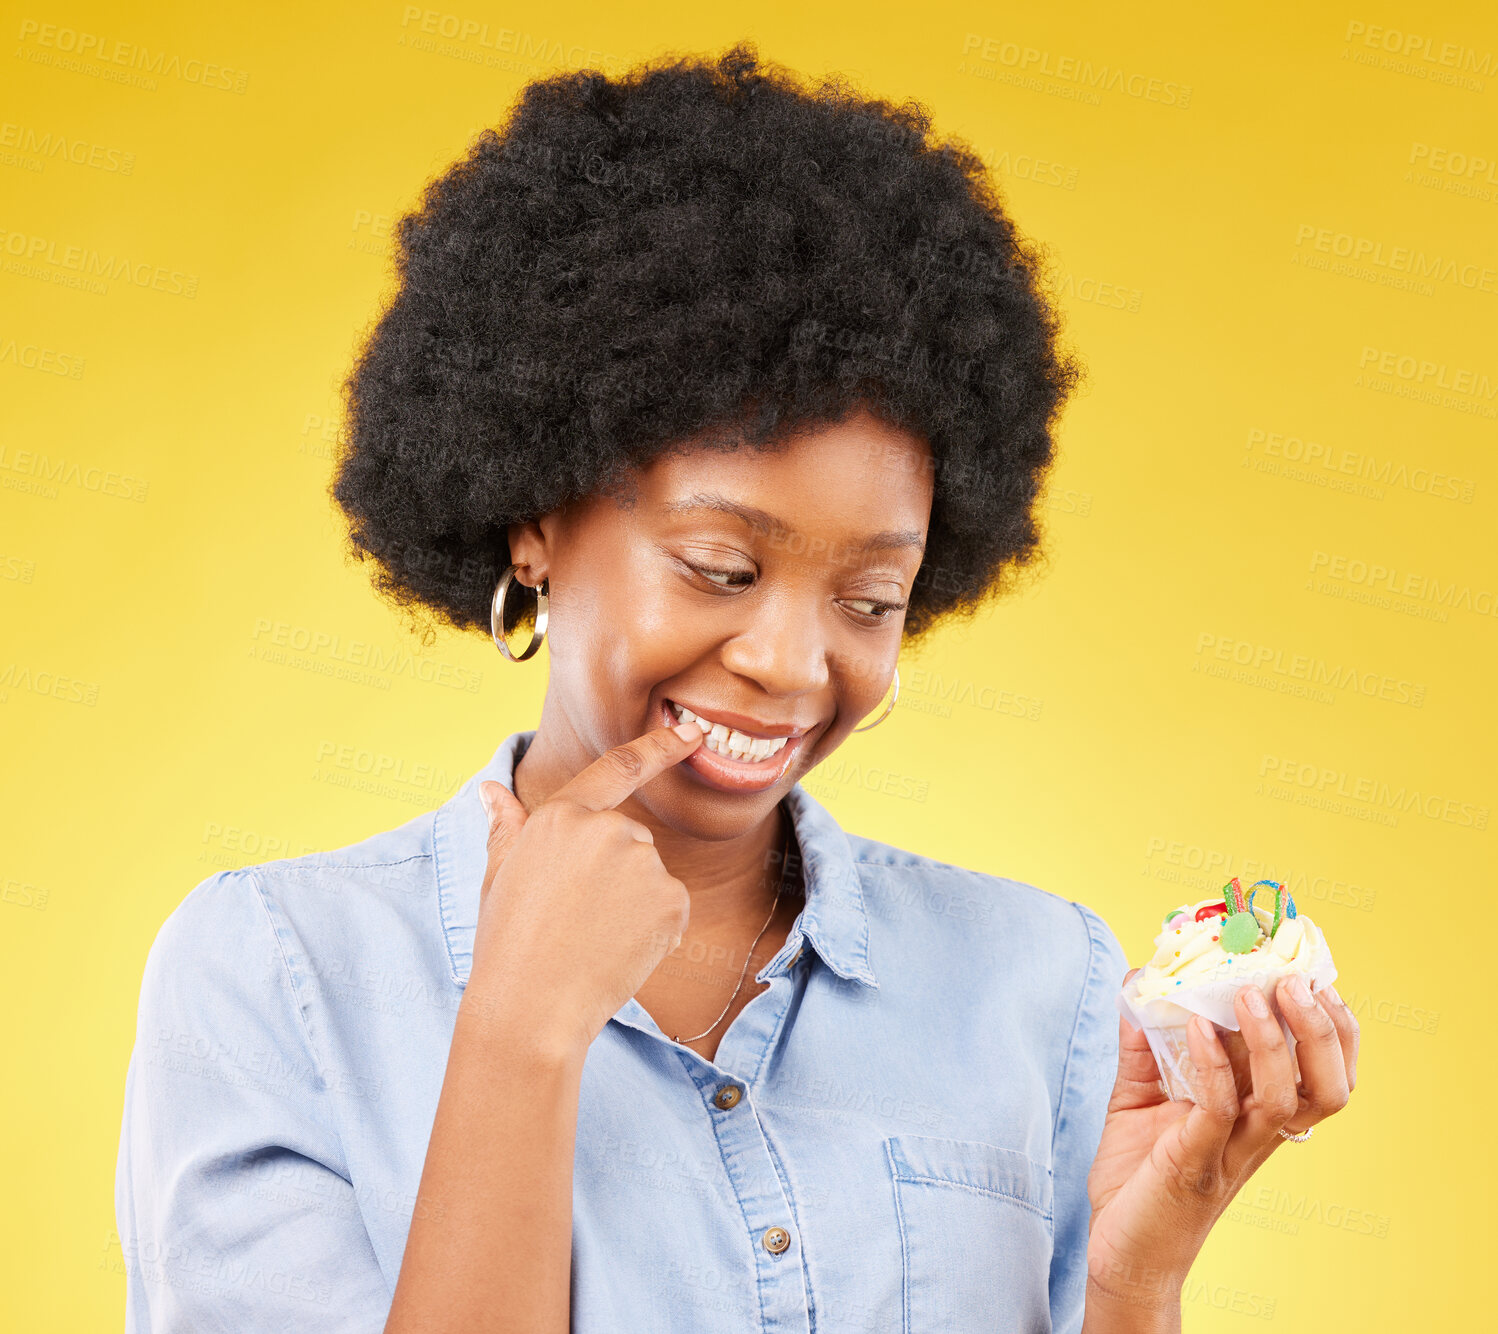
<path fill-rule="evenodd" d="M 379 1334 L 370 1246 L 270 904 L 219 871 L 147 955 L 115 1220 L 126 1334 Z"/>

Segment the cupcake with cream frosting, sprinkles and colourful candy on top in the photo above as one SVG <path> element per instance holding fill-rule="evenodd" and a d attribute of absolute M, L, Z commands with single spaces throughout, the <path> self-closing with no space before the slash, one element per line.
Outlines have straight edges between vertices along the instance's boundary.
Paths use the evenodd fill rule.
<path fill-rule="evenodd" d="M 1272 903 L 1254 903 L 1260 891 Z M 1195 1102 L 1191 1088 L 1194 1062 L 1186 1047 L 1186 1024 L 1198 1014 L 1219 1029 L 1237 1032 L 1233 997 L 1252 984 L 1269 1000 L 1290 1047 L 1296 1078 L 1296 1038 L 1279 1014 L 1275 984 L 1300 973 L 1314 993 L 1336 979 L 1336 964 L 1326 937 L 1306 916 L 1282 883 L 1260 880 L 1248 892 L 1234 876 L 1221 898 L 1183 903 L 1165 913 L 1155 937 L 1155 955 L 1119 993 L 1119 1011 L 1144 1030 L 1155 1053 L 1165 1094 Z"/>

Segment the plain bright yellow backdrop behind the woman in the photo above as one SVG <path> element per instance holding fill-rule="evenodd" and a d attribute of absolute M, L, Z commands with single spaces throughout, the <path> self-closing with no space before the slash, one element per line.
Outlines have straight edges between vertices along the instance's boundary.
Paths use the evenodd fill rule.
<path fill-rule="evenodd" d="M 123 1079 L 171 909 L 437 805 L 539 716 L 541 660 L 422 653 L 342 560 L 336 386 L 391 219 L 529 78 L 737 37 L 977 147 L 1091 368 L 1044 576 L 903 660 L 893 716 L 807 786 L 849 829 L 1089 903 L 1134 961 L 1227 874 L 1288 877 L 1362 1020 L 1359 1088 L 1218 1225 L 1186 1328 L 1489 1318 L 1498 169 L 1473 159 L 1498 159 L 1498 21 L 1150 9 L 6 6 L 10 1328 L 120 1324 Z M 172 64 L 79 60 L 67 31 Z M 1080 61 L 1126 82 L 1094 97 Z M 69 247 L 130 277 L 73 286 Z M 1455 277 L 1390 286 L 1398 247 Z M 394 665 L 339 675 L 372 648 Z"/>

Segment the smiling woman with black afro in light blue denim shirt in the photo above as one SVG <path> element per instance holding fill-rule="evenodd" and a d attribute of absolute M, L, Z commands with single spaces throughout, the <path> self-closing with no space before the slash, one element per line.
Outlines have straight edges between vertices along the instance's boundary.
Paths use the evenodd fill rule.
<path fill-rule="evenodd" d="M 439 810 L 168 919 L 127 1328 L 1176 1330 L 1347 1102 L 1345 1006 L 1279 997 L 1297 1088 L 1254 988 L 1167 1102 L 1095 912 L 798 782 L 1034 557 L 1077 377 L 927 130 L 749 46 L 560 75 L 400 223 L 333 494 L 395 602 L 544 638 L 545 702 Z"/>

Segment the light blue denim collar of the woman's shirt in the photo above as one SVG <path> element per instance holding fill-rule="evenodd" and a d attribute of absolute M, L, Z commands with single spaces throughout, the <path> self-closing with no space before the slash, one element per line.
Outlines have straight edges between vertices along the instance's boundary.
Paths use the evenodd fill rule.
<path fill-rule="evenodd" d="M 488 864 L 487 823 L 478 785 L 485 780 L 515 791 L 515 765 L 535 738 L 535 729 L 512 732 L 484 768 L 473 774 L 433 817 L 433 861 L 437 876 L 437 912 L 446 937 L 452 981 L 467 984 L 473 964 L 473 930 L 478 924 L 479 885 Z M 831 813 L 800 783 L 785 795 L 801 847 L 806 907 L 800 930 L 792 928 L 785 948 L 767 963 L 756 981 L 785 972 L 804 937 L 839 978 L 878 988 L 869 966 L 869 913 L 863 882 L 848 835 Z"/>

